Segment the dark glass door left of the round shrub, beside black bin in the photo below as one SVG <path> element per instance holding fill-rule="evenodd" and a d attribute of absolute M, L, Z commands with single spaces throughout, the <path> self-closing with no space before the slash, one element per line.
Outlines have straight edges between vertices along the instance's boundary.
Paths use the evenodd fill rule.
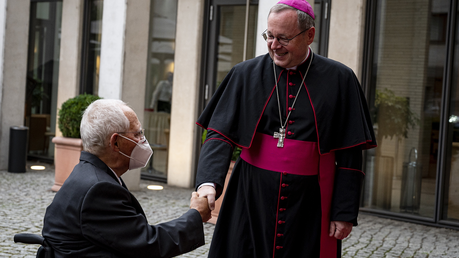
<path fill-rule="evenodd" d="M 62 1 L 32 1 L 25 96 L 28 156 L 52 161 L 56 127 Z"/>

